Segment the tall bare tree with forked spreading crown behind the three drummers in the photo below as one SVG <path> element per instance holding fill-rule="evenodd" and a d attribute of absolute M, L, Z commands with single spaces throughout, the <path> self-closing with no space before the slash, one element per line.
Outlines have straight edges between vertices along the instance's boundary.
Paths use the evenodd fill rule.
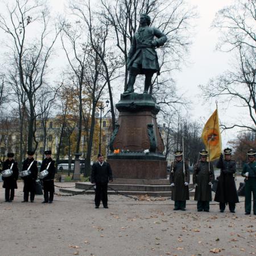
<path fill-rule="evenodd" d="M 6 5 L 7 17 L 0 15 L 0 28 L 11 39 L 19 72 L 19 83 L 28 99 L 28 150 L 34 150 L 36 93 L 46 82 L 48 60 L 60 29 L 51 33 L 51 17 L 44 1 L 15 0 Z M 36 28 L 36 32 L 33 31 Z M 34 33 L 33 33 L 34 32 Z M 31 33 L 33 36 L 31 38 Z M 52 38 L 52 40 L 51 40 Z"/>

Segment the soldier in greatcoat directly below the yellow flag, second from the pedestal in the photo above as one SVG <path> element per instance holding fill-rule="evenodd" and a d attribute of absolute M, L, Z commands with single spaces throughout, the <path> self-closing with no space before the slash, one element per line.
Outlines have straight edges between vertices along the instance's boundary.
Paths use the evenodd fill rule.
<path fill-rule="evenodd" d="M 209 212 L 210 201 L 212 201 L 212 182 L 214 171 L 211 163 L 207 162 L 208 151 L 200 151 L 200 160 L 194 166 L 193 184 L 196 187 L 195 200 L 197 211 Z"/>

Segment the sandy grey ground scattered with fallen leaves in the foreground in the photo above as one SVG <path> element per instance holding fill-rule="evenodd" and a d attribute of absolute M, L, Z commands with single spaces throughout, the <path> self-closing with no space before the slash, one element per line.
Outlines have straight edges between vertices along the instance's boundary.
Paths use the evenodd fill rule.
<path fill-rule="evenodd" d="M 56 183 L 72 186 L 73 183 Z M 2 183 L 0 183 L 2 187 Z M 185 212 L 171 200 L 135 201 L 109 196 L 109 209 L 94 208 L 93 195 L 55 196 L 53 204 L 21 203 L 18 184 L 13 203 L 0 189 L 0 255 L 253 255 L 256 216 L 244 214 L 243 197 L 236 213 Z"/>

